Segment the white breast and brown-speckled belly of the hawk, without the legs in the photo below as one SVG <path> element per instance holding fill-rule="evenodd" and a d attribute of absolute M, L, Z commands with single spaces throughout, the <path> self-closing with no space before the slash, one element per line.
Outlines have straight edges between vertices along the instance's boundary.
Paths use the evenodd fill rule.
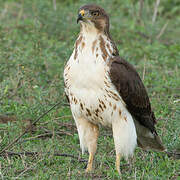
<path fill-rule="evenodd" d="M 104 44 L 109 44 L 109 47 L 111 47 L 107 38 L 103 36 L 102 38 Z M 71 110 L 76 116 L 87 116 L 87 112 L 84 113 L 82 111 L 80 103 L 89 109 L 92 114 L 95 114 L 98 108 L 101 111 L 101 107 L 105 106 L 107 109 L 102 110 L 101 113 L 99 112 L 99 115 L 101 115 L 99 120 L 94 117 L 88 118 L 91 121 L 94 121 L 94 119 L 101 121 L 101 124 L 104 125 L 111 125 L 112 118 L 110 116 L 113 114 L 112 111 L 114 111 L 113 104 L 116 103 L 119 104 L 119 107 L 123 107 L 123 101 L 121 101 L 121 97 L 116 92 L 109 78 L 108 57 L 110 58 L 111 54 L 107 49 L 107 59 L 105 61 L 102 57 L 103 52 L 100 43 L 98 35 L 91 36 L 88 34 L 87 37 L 82 38 L 81 43 L 77 47 L 75 46 L 77 48 L 77 57 L 75 56 L 76 49 L 74 49 L 64 72 L 65 91 L 71 101 Z M 109 84 L 109 87 L 107 84 Z M 111 96 L 113 95 L 108 94 L 108 91 L 116 94 L 119 102 L 112 99 Z M 74 101 L 74 97 L 77 102 L 76 100 Z M 103 102 L 105 105 L 99 105 L 100 102 Z"/>

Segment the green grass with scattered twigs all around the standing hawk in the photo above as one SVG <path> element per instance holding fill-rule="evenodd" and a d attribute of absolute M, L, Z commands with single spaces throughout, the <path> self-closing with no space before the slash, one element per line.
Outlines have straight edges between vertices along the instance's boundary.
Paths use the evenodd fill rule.
<path fill-rule="evenodd" d="M 101 128 L 95 168 L 54 152 L 81 156 L 68 106 L 61 105 L 32 126 L 56 102 L 66 103 L 63 67 L 79 32 L 78 8 L 87 0 L 0 0 L 0 150 L 26 133 L 8 151 L 38 155 L 1 156 L 1 179 L 118 179 L 110 130 Z M 154 2 L 92 1 L 104 7 L 119 53 L 133 64 L 147 87 L 158 119 L 157 131 L 170 152 L 180 151 L 180 8 L 164 0 L 152 24 Z M 56 9 L 56 10 L 55 10 Z M 140 15 L 141 14 L 141 15 Z M 165 31 L 163 26 L 167 23 Z M 160 37 L 159 37 L 160 36 Z M 88 158 L 85 154 L 83 159 Z M 137 148 L 133 165 L 122 161 L 123 179 L 178 179 L 180 161 Z"/>

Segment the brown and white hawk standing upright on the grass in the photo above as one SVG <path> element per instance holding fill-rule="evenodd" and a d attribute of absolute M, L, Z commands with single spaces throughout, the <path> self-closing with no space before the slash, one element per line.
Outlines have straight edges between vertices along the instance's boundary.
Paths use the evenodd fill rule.
<path fill-rule="evenodd" d="M 120 58 L 109 32 L 109 17 L 97 5 L 78 11 L 80 33 L 64 69 L 65 93 L 75 120 L 82 153 L 92 170 L 99 125 L 112 128 L 116 169 L 136 145 L 163 151 L 147 91 L 135 68 Z"/>

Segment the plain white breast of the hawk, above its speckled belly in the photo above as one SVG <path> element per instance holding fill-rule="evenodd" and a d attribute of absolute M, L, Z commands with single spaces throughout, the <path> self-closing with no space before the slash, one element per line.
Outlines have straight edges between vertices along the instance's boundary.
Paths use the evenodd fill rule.
<path fill-rule="evenodd" d="M 98 37 L 96 38 L 94 35 L 83 37 L 77 48 L 76 60 L 74 59 L 75 50 L 70 57 L 68 64 L 71 68 L 68 72 L 68 79 L 73 91 L 76 89 L 83 92 L 86 90 L 88 92 L 97 91 L 104 86 L 103 77 L 108 66 L 101 56 L 99 41 L 94 43 L 96 39 Z"/>

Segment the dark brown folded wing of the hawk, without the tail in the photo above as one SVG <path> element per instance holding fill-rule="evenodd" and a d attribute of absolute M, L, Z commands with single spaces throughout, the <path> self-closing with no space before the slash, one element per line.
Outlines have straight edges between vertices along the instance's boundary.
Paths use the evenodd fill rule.
<path fill-rule="evenodd" d="M 156 119 L 151 110 L 149 97 L 135 68 L 116 56 L 111 61 L 110 78 L 126 103 L 128 111 L 141 125 L 156 133 Z"/>

